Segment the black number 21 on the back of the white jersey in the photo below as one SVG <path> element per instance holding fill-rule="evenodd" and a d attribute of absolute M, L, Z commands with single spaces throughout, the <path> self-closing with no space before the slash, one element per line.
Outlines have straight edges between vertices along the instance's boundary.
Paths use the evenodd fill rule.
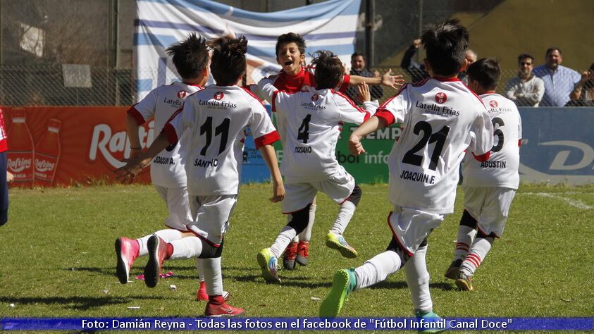
<path fill-rule="evenodd" d="M 431 124 L 421 120 L 414 125 L 412 132 L 414 132 L 415 135 L 419 135 L 421 131 L 423 131 L 423 137 L 421 137 L 421 140 L 417 142 L 412 149 L 404 154 L 402 162 L 408 163 L 409 165 L 421 166 L 421 163 L 423 163 L 423 155 L 416 154 L 416 152 L 424 149 L 427 144 L 435 142 L 433 154 L 431 154 L 431 163 L 429 163 L 429 169 L 435 171 L 435 168 L 438 167 L 438 160 L 443 149 L 443 144 L 445 143 L 445 138 L 447 137 L 447 133 L 450 132 L 450 127 L 444 126 L 438 132 L 433 133 Z"/>

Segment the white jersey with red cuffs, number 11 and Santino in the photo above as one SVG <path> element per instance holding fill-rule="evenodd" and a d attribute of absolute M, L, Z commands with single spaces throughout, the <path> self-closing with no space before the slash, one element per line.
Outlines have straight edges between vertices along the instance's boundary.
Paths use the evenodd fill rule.
<path fill-rule="evenodd" d="M 278 140 L 261 101 L 238 86 L 210 85 L 185 100 L 165 125 L 169 142 L 188 130 L 187 192 L 192 196 L 239 192 L 245 130 L 256 148 Z"/>

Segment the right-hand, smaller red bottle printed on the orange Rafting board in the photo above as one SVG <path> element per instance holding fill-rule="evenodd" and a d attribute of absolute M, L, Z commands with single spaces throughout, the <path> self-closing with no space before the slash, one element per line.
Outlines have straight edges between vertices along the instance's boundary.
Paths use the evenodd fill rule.
<path fill-rule="evenodd" d="M 58 161 L 60 160 L 60 120 L 49 118 L 47 132 L 35 146 L 35 185 L 51 187 L 54 185 Z"/>

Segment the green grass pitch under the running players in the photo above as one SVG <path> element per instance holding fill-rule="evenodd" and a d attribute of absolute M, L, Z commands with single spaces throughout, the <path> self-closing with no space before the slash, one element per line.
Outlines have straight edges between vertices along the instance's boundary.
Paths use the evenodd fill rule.
<path fill-rule="evenodd" d="M 245 185 L 223 252 L 225 290 L 245 316 L 317 316 L 334 271 L 359 266 L 390 241 L 387 185 L 363 185 L 361 203 L 345 237 L 358 259 L 342 259 L 324 236 L 338 207 L 318 196 L 310 264 L 281 271 L 282 285 L 260 277 L 256 253 L 273 242 L 285 216 L 268 202 L 271 185 Z M 151 186 L 11 190 L 9 221 L 0 228 L 1 316 L 202 316 L 194 300 L 193 260 L 168 261 L 154 289 L 140 280 L 120 285 L 116 237 L 140 237 L 163 227 L 166 208 Z M 522 185 L 507 228 L 474 278 L 476 291 L 459 292 L 443 277 L 462 214 L 456 211 L 429 238 L 428 269 L 435 311 L 441 316 L 592 316 L 594 314 L 594 187 Z M 147 258 L 137 259 L 132 278 Z M 177 286 L 176 291 L 169 288 Z M 10 304 L 14 304 L 11 307 Z M 140 309 L 128 309 L 140 307 Z M 403 273 L 355 292 L 342 316 L 413 315 Z"/>

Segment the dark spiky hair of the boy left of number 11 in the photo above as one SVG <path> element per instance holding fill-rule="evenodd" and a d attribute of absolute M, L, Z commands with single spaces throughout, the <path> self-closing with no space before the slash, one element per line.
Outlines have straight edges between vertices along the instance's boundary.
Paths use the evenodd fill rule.
<path fill-rule="evenodd" d="M 185 40 L 172 44 L 166 51 L 173 56 L 173 65 L 182 79 L 198 78 L 209 63 L 206 39 L 195 32 L 190 32 Z"/>

